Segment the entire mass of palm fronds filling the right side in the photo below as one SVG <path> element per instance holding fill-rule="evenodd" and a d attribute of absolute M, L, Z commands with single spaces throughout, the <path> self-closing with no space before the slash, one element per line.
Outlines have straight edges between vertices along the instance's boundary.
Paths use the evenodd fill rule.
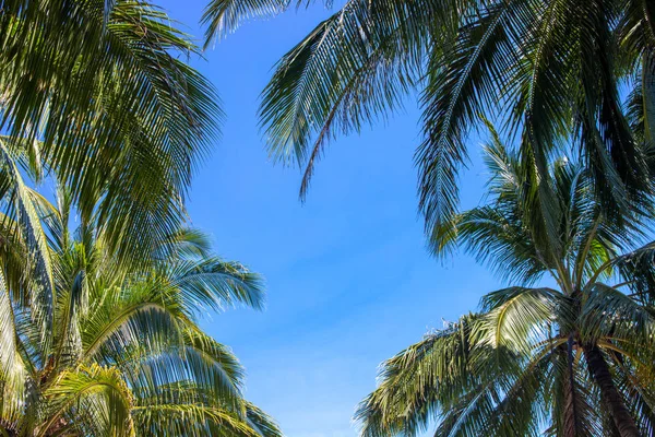
<path fill-rule="evenodd" d="M 291 5 L 213 0 L 207 42 Z M 412 91 L 433 251 L 464 245 L 520 286 L 384 363 L 362 435 L 655 435 L 655 246 L 636 246 L 655 204 L 655 2 L 346 0 L 279 60 L 260 120 L 273 156 L 305 166 L 303 196 L 327 140 Z M 516 146 L 491 132 L 491 202 L 460 213 L 480 114 Z M 544 275 L 557 286 L 532 287 Z"/>

